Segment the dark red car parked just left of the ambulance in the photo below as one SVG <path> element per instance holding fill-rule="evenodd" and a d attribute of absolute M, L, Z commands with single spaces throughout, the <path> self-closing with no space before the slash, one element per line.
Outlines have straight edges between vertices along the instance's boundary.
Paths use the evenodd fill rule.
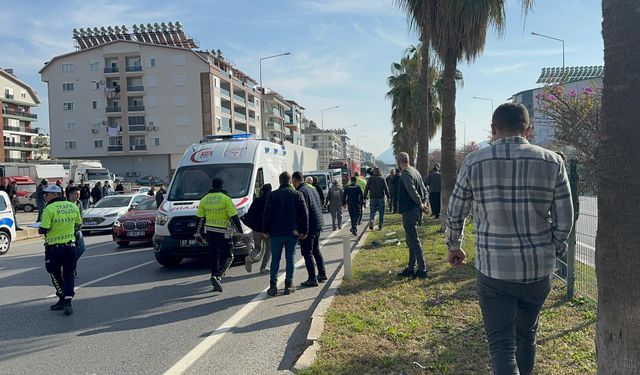
<path fill-rule="evenodd" d="M 133 210 L 116 219 L 113 223 L 113 241 L 122 247 L 131 242 L 151 242 L 155 233 L 156 211 L 156 199 L 147 197 Z"/>

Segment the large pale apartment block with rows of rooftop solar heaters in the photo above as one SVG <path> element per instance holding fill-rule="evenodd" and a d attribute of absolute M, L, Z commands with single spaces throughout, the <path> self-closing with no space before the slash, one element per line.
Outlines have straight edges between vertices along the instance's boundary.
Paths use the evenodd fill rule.
<path fill-rule="evenodd" d="M 219 50 L 198 50 L 179 23 L 80 29 L 74 40 L 40 71 L 53 157 L 168 179 L 207 135 L 262 136 L 256 81 Z"/>

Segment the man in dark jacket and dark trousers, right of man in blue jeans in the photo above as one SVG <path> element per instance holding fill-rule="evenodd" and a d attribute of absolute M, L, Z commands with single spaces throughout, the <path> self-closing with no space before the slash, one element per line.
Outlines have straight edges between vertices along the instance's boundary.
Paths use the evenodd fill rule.
<path fill-rule="evenodd" d="M 318 286 L 318 282 L 327 281 L 327 273 L 324 268 L 324 259 L 320 253 L 320 231 L 324 225 L 322 217 L 322 201 L 316 189 L 303 181 L 301 172 L 293 172 L 291 176 L 293 186 L 304 196 L 307 211 L 309 212 L 309 231 L 307 238 L 300 240 L 300 249 L 304 257 L 304 264 L 307 267 L 307 281 L 300 284 L 304 287 Z M 315 262 L 314 262 L 315 260 Z M 314 264 L 315 263 L 315 264 Z M 318 275 L 316 277 L 316 264 L 318 265 Z"/>

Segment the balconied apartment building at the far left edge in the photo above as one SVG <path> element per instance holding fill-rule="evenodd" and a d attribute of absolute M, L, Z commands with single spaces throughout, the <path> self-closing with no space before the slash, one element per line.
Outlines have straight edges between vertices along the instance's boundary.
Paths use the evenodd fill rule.
<path fill-rule="evenodd" d="M 40 104 L 40 99 L 12 69 L 0 68 L 0 90 L 0 162 L 26 163 L 33 160 L 38 148 L 33 142 L 38 129 L 32 126 L 38 116 L 31 108 Z"/>

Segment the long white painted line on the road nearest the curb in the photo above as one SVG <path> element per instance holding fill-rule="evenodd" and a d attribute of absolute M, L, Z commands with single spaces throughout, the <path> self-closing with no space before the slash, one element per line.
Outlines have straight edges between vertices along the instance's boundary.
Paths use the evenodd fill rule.
<path fill-rule="evenodd" d="M 320 246 L 324 246 L 331 238 L 333 238 L 342 230 L 331 233 L 327 238 L 320 243 Z M 295 268 L 304 264 L 304 258 L 296 262 Z M 278 285 L 284 282 L 285 273 L 282 273 L 278 278 Z M 184 374 L 200 357 L 202 357 L 207 351 L 209 351 L 220 339 L 222 339 L 229 331 L 246 318 L 258 305 L 267 298 L 267 289 L 264 288 L 258 293 L 249 303 L 244 305 L 237 313 L 227 319 L 222 325 L 211 332 L 204 340 L 202 340 L 195 348 L 187 353 L 182 359 L 174 364 L 164 375 L 179 375 Z"/>

